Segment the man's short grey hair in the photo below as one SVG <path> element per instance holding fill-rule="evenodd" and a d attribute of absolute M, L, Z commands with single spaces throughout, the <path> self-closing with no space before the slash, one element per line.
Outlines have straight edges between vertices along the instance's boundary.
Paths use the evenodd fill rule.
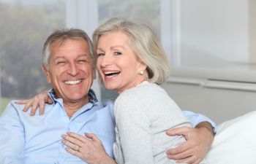
<path fill-rule="evenodd" d="M 50 44 L 53 42 L 59 42 L 60 45 L 65 42 L 67 39 L 83 39 L 89 44 L 89 52 L 91 59 L 93 61 L 93 68 L 95 69 L 95 59 L 94 59 L 94 50 L 90 37 L 86 34 L 85 31 L 77 28 L 64 28 L 61 30 L 56 30 L 51 34 L 48 39 L 46 39 L 44 47 L 42 49 L 42 66 L 45 69 L 49 69 L 49 58 L 50 58 Z"/>

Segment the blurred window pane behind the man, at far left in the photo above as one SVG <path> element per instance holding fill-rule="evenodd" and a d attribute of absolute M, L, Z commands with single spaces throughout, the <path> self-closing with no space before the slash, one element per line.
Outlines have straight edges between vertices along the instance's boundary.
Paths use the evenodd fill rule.
<path fill-rule="evenodd" d="M 49 87 L 41 71 L 42 45 L 65 26 L 62 0 L 0 0 L 1 111 L 11 99 L 31 98 Z"/>

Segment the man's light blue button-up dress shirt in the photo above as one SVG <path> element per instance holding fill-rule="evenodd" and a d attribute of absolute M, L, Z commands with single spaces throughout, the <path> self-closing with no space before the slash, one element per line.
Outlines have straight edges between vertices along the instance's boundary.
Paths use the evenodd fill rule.
<path fill-rule="evenodd" d="M 113 101 L 99 105 L 93 91 L 89 91 L 86 104 L 71 118 L 64 110 L 62 99 L 54 98 L 53 104 L 45 104 L 45 114 L 34 117 L 23 112 L 24 105 L 11 101 L 0 117 L 0 163 L 1 164 L 78 164 L 85 163 L 79 157 L 70 155 L 61 144 L 61 135 L 69 131 L 94 133 L 102 141 L 108 155 L 113 157 L 113 143 L 116 141 Z M 207 117 L 184 112 L 193 125 L 208 121 Z"/>

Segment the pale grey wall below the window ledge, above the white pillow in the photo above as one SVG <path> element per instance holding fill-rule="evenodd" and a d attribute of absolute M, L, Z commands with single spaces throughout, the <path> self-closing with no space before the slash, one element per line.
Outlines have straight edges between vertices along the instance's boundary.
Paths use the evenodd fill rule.
<path fill-rule="evenodd" d="M 163 87 L 183 110 L 206 114 L 217 123 L 256 110 L 256 84 L 192 79 Z"/>

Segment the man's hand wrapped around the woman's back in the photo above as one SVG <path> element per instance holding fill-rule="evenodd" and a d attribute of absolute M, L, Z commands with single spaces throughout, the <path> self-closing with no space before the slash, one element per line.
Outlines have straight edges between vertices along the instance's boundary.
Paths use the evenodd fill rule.
<path fill-rule="evenodd" d="M 198 164 L 200 163 L 214 141 L 214 133 L 211 124 L 200 122 L 195 128 L 182 127 L 167 130 L 169 136 L 184 136 L 187 141 L 174 149 L 167 150 L 167 157 L 176 160 L 176 163 Z"/>

